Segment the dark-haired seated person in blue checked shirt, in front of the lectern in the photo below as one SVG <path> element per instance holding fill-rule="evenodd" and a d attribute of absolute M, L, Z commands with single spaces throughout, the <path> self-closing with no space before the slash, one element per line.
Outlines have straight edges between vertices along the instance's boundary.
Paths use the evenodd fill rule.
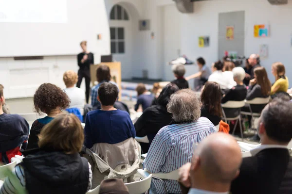
<path fill-rule="evenodd" d="M 99 86 L 104 82 L 110 82 L 117 86 L 115 82 L 110 81 L 111 75 L 110 75 L 110 67 L 108 65 L 98 66 L 98 68 L 96 69 L 96 79 L 98 81 L 98 84 L 91 88 L 91 106 L 92 106 L 91 108 L 93 110 L 98 110 L 101 108 L 101 105 L 99 101 L 97 100 Z"/>

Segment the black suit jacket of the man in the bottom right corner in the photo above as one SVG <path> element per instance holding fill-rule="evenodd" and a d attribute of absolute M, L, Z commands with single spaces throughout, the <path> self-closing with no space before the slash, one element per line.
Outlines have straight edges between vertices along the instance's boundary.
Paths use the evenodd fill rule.
<path fill-rule="evenodd" d="M 292 194 L 292 157 L 288 149 L 263 149 L 243 158 L 232 194 Z"/>

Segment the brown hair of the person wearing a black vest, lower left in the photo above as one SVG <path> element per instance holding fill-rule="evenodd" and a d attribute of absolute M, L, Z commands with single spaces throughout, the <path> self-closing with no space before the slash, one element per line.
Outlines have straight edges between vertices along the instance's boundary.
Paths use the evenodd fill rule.
<path fill-rule="evenodd" d="M 43 127 L 38 135 L 40 148 L 79 153 L 84 142 L 80 120 L 74 114 L 60 114 Z"/>

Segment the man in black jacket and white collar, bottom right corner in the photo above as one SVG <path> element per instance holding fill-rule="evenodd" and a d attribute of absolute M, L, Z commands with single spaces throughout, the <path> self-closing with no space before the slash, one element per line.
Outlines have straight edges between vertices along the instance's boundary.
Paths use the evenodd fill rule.
<path fill-rule="evenodd" d="M 244 158 L 232 194 L 291 194 L 292 158 L 287 145 L 292 138 L 292 103 L 276 99 L 259 118 L 261 145 Z"/>

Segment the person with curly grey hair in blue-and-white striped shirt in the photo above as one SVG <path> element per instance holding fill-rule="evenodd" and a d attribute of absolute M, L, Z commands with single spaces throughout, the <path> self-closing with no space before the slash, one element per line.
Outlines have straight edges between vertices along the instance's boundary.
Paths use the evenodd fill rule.
<path fill-rule="evenodd" d="M 172 113 L 173 122 L 158 131 L 144 162 L 144 168 L 151 173 L 169 173 L 191 162 L 194 146 L 216 132 L 209 119 L 200 117 L 200 99 L 190 89 L 173 94 L 167 104 L 167 111 Z M 164 193 L 163 184 L 159 180 L 152 181 L 156 192 Z M 181 193 L 176 180 L 164 182 L 169 193 Z"/>

